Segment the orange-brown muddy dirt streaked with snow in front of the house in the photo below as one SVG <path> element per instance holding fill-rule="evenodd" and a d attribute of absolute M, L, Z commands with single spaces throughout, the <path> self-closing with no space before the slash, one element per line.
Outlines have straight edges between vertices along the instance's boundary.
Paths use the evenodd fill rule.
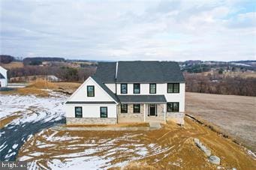
<path fill-rule="evenodd" d="M 185 127 L 167 122 L 160 130 L 149 131 L 58 131 L 46 130 L 29 139 L 20 149 L 18 160 L 35 162 L 42 169 L 53 160 L 63 164 L 95 157 L 101 169 L 217 169 L 194 145 L 200 139 L 221 158 L 223 169 L 256 169 L 256 160 L 245 148 L 185 118 Z M 50 136 L 50 137 L 49 137 Z M 146 151 L 143 156 L 139 154 Z M 98 163 L 98 162 L 95 162 Z M 35 167 L 35 166 L 34 166 Z"/>

